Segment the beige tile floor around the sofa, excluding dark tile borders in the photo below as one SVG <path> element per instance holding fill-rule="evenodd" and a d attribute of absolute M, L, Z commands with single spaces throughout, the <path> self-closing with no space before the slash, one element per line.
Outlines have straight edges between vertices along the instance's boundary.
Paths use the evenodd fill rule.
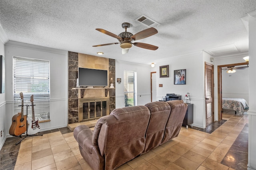
<path fill-rule="evenodd" d="M 213 133 L 182 127 L 178 137 L 120 166 L 118 170 L 232 170 L 220 162 L 248 123 L 248 115 L 228 119 Z M 93 129 L 93 128 L 91 128 Z M 21 142 L 14 170 L 91 170 L 73 132 L 60 131 Z"/>

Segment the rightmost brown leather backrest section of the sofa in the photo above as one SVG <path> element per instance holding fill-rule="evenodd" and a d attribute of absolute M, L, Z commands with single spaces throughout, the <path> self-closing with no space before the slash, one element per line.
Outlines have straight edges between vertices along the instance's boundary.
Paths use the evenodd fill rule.
<path fill-rule="evenodd" d="M 183 123 L 188 105 L 182 100 L 171 100 L 166 102 L 171 107 L 170 117 L 166 125 L 166 132 L 161 144 L 170 141 L 172 138 L 177 137 L 180 133 L 180 128 Z"/>

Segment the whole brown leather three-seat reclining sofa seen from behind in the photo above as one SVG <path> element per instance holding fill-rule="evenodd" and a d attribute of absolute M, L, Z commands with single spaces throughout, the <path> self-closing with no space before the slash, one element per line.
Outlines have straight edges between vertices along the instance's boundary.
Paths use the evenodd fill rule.
<path fill-rule="evenodd" d="M 74 129 L 80 153 L 93 170 L 114 170 L 177 137 L 188 106 L 182 100 L 114 109 L 94 131 Z"/>

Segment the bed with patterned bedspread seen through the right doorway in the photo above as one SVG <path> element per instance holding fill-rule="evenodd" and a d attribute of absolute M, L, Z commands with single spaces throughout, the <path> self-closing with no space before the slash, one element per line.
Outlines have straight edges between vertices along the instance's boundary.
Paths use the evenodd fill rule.
<path fill-rule="evenodd" d="M 249 106 L 242 98 L 222 98 L 222 109 L 232 109 L 238 115 L 242 115 L 244 110 L 249 109 Z"/>

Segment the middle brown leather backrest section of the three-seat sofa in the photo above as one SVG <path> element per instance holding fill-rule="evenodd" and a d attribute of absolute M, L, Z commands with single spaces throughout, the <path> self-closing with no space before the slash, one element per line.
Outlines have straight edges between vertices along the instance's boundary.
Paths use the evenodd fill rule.
<path fill-rule="evenodd" d="M 151 116 L 146 132 L 145 149 L 142 153 L 158 147 L 162 142 L 171 109 L 166 102 L 150 102 L 145 106 L 150 110 Z"/>

